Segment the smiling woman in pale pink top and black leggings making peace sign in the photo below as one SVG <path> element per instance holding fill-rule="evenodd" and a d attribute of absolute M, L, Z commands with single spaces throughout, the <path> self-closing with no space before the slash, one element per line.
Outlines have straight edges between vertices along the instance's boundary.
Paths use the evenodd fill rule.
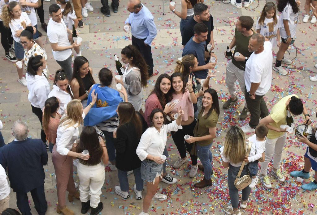
<path fill-rule="evenodd" d="M 180 158 L 173 164 L 175 169 L 180 168 L 184 163 L 187 163 L 186 149 L 188 152 L 191 151 L 192 144 L 188 144 L 184 141 L 185 135 L 193 135 L 194 127 L 197 120 L 194 117 L 194 106 L 193 103 L 197 102 L 197 97 L 193 90 L 192 76 L 188 76 L 188 82 L 185 83 L 183 80 L 183 75 L 180 72 L 173 73 L 171 75 L 172 81 L 172 100 L 171 102 L 175 104 L 173 110 L 171 111 L 172 119 L 175 119 L 175 114 L 177 113 L 177 108 L 182 108 L 184 110 L 182 126 L 183 129 L 172 133 L 172 138 L 180 154 Z M 191 170 L 189 172 L 189 177 L 193 178 L 197 174 L 197 155 L 191 155 Z"/>

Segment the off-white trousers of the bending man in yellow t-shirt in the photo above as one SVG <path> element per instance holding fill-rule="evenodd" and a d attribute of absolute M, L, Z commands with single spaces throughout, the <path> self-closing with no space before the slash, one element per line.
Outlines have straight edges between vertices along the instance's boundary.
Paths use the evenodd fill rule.
<path fill-rule="evenodd" d="M 261 174 L 268 174 L 268 163 L 270 163 L 273 157 L 273 168 L 278 169 L 280 167 L 282 152 L 286 143 L 287 133 L 283 133 L 281 136 L 275 139 L 266 138 L 265 143 L 265 160 L 261 162 Z"/>

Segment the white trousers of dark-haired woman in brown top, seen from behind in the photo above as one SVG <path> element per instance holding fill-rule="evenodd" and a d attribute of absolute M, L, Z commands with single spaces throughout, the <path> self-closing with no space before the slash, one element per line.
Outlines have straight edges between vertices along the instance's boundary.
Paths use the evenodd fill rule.
<path fill-rule="evenodd" d="M 105 166 L 99 163 L 94 166 L 86 166 L 78 163 L 79 198 L 87 202 L 90 195 L 90 206 L 96 208 L 100 202 L 101 188 L 105 183 Z"/>

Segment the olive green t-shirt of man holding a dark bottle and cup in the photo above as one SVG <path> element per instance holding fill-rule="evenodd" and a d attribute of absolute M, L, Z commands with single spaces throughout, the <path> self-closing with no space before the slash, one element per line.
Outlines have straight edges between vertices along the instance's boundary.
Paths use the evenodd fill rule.
<path fill-rule="evenodd" d="M 252 29 L 252 31 L 253 31 L 253 29 Z M 254 31 L 253 31 L 253 34 L 255 34 Z M 246 37 L 241 32 L 237 31 L 237 28 L 236 28 L 235 29 L 236 48 L 235 48 L 234 53 L 239 52 L 244 57 L 249 58 L 251 56 L 252 52 L 249 52 L 248 46 L 249 46 L 249 40 L 252 37 L 252 35 L 249 37 Z M 232 55 L 234 55 L 234 53 Z M 245 70 L 245 61 L 236 61 L 233 56 L 231 58 L 231 61 L 240 70 Z"/>

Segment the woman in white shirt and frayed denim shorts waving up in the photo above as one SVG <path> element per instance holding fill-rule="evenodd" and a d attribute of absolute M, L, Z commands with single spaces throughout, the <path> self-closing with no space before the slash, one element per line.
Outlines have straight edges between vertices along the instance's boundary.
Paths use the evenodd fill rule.
<path fill-rule="evenodd" d="M 152 199 L 164 201 L 166 195 L 156 193 L 159 182 L 162 180 L 164 159 L 161 158 L 165 149 L 167 133 L 182 129 L 181 126 L 184 111 L 178 109 L 178 118 L 168 125 L 164 125 L 164 112 L 156 108 L 152 110 L 150 121 L 152 127 L 146 129 L 142 134 L 140 143 L 136 150 L 141 163 L 141 176 L 147 181 L 146 196 L 143 199 L 143 211 L 139 215 L 148 215 Z"/>

